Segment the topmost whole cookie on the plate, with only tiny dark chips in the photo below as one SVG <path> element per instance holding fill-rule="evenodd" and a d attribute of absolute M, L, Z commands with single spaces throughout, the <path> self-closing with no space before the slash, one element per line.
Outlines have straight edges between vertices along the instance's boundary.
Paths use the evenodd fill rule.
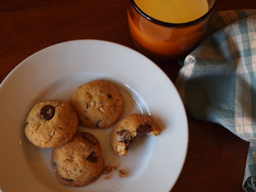
<path fill-rule="evenodd" d="M 70 97 L 79 124 L 89 128 L 107 128 L 121 116 L 124 100 L 113 84 L 94 80 L 79 86 Z"/>

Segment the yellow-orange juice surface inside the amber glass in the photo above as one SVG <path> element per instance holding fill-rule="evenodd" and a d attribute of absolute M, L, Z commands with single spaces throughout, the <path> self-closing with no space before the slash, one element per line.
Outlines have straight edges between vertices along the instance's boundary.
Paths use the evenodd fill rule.
<path fill-rule="evenodd" d="M 134 0 L 147 15 L 167 23 L 187 23 L 209 10 L 207 0 Z"/>

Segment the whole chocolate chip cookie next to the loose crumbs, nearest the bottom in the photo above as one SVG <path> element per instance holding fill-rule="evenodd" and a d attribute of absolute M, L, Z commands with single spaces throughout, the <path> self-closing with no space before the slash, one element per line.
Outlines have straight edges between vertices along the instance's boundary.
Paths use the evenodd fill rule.
<path fill-rule="evenodd" d="M 64 185 L 81 187 L 94 182 L 104 166 L 99 141 L 90 133 L 77 131 L 70 142 L 52 149 L 51 166 Z"/>

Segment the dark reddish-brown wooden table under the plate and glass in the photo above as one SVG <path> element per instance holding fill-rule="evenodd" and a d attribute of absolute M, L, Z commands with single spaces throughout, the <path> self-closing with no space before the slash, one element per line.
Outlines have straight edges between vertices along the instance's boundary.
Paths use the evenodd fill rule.
<path fill-rule="evenodd" d="M 248 8 L 256 9 L 254 0 L 219 0 L 217 10 Z M 35 52 L 75 39 L 107 40 L 137 50 L 127 24 L 126 0 L 1 0 L 0 83 Z M 154 62 L 175 81 L 177 62 Z M 188 124 L 187 158 L 172 191 L 244 191 L 249 143 L 214 123 L 188 116 Z"/>

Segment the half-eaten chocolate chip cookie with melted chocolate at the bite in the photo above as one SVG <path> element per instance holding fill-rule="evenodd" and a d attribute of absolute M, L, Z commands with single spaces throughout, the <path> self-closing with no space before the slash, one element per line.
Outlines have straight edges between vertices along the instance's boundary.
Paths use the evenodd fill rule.
<path fill-rule="evenodd" d="M 160 128 L 156 122 L 143 114 L 131 114 L 119 121 L 111 131 L 110 142 L 114 152 L 120 156 L 126 155 L 130 143 L 142 135 L 157 136 Z"/>

